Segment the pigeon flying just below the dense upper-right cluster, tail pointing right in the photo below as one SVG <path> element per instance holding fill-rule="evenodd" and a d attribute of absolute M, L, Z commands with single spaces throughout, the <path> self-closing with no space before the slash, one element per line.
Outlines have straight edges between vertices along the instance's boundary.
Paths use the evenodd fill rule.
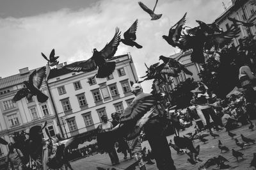
<path fill-rule="evenodd" d="M 179 76 L 179 73 L 181 70 L 188 74 L 188 75 L 193 75 L 192 72 L 190 72 L 186 66 L 183 63 L 180 63 L 174 58 L 166 58 L 164 56 L 159 56 L 159 60 L 163 60 L 165 66 L 163 70 L 161 70 L 161 73 L 166 73 L 167 75 L 170 75 L 172 77 L 177 77 Z"/>

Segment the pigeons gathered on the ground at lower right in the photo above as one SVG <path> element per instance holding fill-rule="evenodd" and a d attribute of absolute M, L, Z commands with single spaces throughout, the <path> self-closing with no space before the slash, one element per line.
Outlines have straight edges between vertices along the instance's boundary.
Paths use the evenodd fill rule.
<path fill-rule="evenodd" d="M 251 127 L 250 129 L 252 129 L 254 125 L 251 124 L 250 127 Z M 188 135 L 188 137 L 186 135 Z M 220 137 L 220 135 L 213 134 L 212 132 L 210 132 L 210 134 L 198 134 L 198 130 L 195 130 L 194 134 L 190 132 L 186 135 L 184 135 L 183 137 L 179 137 L 179 136 L 173 137 L 174 143 L 172 142 L 172 139 L 170 139 L 169 146 L 171 146 L 175 151 L 177 151 L 177 154 L 187 153 L 187 155 L 189 156 L 188 162 L 190 162 L 193 165 L 197 164 L 198 162 L 202 162 L 202 160 L 198 158 L 198 155 L 200 152 L 200 145 L 196 146 L 195 148 L 193 145 L 193 141 L 196 139 L 199 139 L 199 141 L 205 144 L 208 141 L 208 139 L 205 139 L 205 137 L 209 135 L 214 137 L 213 139 L 216 139 L 216 137 Z M 236 134 L 230 131 L 227 132 L 227 135 L 230 136 L 232 139 L 234 139 L 234 137 L 236 136 Z M 241 150 L 243 150 L 244 147 L 246 146 L 250 146 L 250 144 L 255 144 L 254 139 L 244 137 L 243 134 L 241 134 L 241 140 L 242 141 L 239 141 L 237 138 L 234 139 L 236 146 L 241 148 Z M 230 150 L 227 146 L 221 143 L 220 140 L 218 140 L 218 148 L 221 150 L 221 153 L 223 153 L 223 151 L 225 151 L 226 153 Z M 232 148 L 232 155 L 233 157 L 236 158 L 237 162 L 239 157 L 243 158 L 244 156 L 243 153 L 241 153 L 240 151 L 234 150 L 234 148 Z M 218 157 L 213 157 L 206 160 L 205 163 L 199 167 L 199 169 L 208 169 L 209 167 L 214 165 L 217 165 L 218 167 L 220 167 L 220 169 L 227 169 L 230 167 L 230 165 L 225 164 L 225 162 L 229 162 L 227 158 L 221 155 L 218 155 Z M 253 153 L 253 159 L 250 163 L 250 166 L 256 167 L 256 153 Z"/>

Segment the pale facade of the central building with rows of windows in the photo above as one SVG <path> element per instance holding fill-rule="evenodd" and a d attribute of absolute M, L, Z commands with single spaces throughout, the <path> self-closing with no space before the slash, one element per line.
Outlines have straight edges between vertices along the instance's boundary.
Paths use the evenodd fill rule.
<path fill-rule="evenodd" d="M 129 81 L 135 81 L 138 79 L 136 70 L 132 63 L 132 59 L 130 55 L 124 55 L 122 58 L 115 59 L 116 61 L 116 69 L 113 72 L 113 79 L 107 80 L 104 79 L 96 79 L 96 84 L 90 85 L 88 83 L 88 78 L 93 77 L 97 70 L 88 73 L 67 73 L 65 75 L 61 75 L 59 77 L 54 77 L 49 79 L 49 86 L 51 88 L 51 93 L 54 98 L 54 104 L 56 105 L 56 110 L 60 119 L 64 119 L 64 127 L 63 132 L 65 133 L 65 129 L 67 131 L 67 136 L 74 136 L 77 134 L 82 134 L 83 132 L 88 132 L 97 128 L 100 123 L 100 116 L 97 111 L 99 109 L 105 109 L 108 119 L 111 119 L 111 113 L 116 112 L 115 104 L 121 104 L 123 109 L 127 107 L 126 100 L 131 101 L 134 98 L 131 91 L 124 93 L 122 88 L 122 82 L 126 81 L 129 84 L 129 89 L 131 89 L 131 84 Z M 125 75 L 119 76 L 118 69 L 124 68 Z M 81 89 L 74 88 L 74 82 L 79 81 L 81 84 Z M 116 88 L 118 90 L 119 95 L 111 96 L 110 86 L 111 84 L 116 84 Z M 110 86 L 109 86 L 110 85 Z M 60 95 L 58 88 L 61 86 L 65 87 L 66 93 Z M 102 89 L 103 88 L 103 89 Z M 103 90 L 107 89 L 109 93 L 108 98 L 103 98 Z M 93 97 L 93 91 L 95 89 L 99 89 L 100 96 L 102 100 L 99 102 L 95 102 Z M 77 95 L 84 94 L 86 98 L 87 105 L 84 107 L 80 107 L 79 101 L 77 99 Z M 67 99 L 72 108 L 71 111 L 64 111 L 63 109 L 63 99 Z M 92 118 L 92 125 L 86 126 L 84 121 L 84 114 L 90 114 Z M 70 128 L 70 123 L 68 121 L 74 120 L 76 123 L 76 130 Z"/>

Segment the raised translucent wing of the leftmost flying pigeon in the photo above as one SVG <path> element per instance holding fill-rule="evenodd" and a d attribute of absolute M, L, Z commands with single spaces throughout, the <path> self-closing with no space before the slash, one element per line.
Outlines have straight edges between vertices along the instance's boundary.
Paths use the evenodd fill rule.
<path fill-rule="evenodd" d="M 29 75 L 29 84 L 33 84 L 36 88 L 40 89 L 45 77 L 45 72 L 45 66 L 39 68 L 39 70 L 34 70 L 34 72 Z"/>

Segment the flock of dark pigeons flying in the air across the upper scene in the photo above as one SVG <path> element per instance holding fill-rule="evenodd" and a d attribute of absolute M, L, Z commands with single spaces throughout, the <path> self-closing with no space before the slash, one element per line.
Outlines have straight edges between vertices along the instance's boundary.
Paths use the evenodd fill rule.
<path fill-rule="evenodd" d="M 158 20 L 161 19 L 162 14 L 154 13 L 157 2 L 154 6 L 153 10 L 150 10 L 145 4 L 138 2 L 140 7 L 147 12 L 151 20 Z M 205 24 L 200 20 L 196 20 L 198 26 L 196 27 L 189 27 L 184 26 L 186 22 L 186 15 L 184 14 L 182 19 L 180 19 L 174 26 L 170 27 L 168 36 L 163 35 L 163 39 L 172 47 L 179 47 L 182 51 L 186 50 L 193 50 L 191 53 L 191 61 L 195 63 L 204 63 L 204 52 L 206 50 L 211 50 L 214 47 L 214 50 L 218 50 L 219 48 L 223 47 L 230 43 L 232 38 L 237 37 L 239 33 L 240 24 L 243 26 L 252 26 L 252 23 L 241 22 L 236 19 L 231 19 L 234 24 L 227 29 L 227 31 L 223 31 L 220 27 L 216 24 Z M 116 27 L 115 35 L 113 36 L 112 40 L 105 45 L 102 50 L 97 50 L 96 48 L 93 49 L 93 55 L 90 59 L 85 61 L 77 61 L 70 65 L 64 66 L 65 69 L 72 70 L 73 72 L 88 72 L 95 70 L 98 68 L 97 73 L 94 77 L 97 78 L 104 78 L 108 77 L 113 71 L 115 70 L 116 63 L 115 61 L 109 61 L 113 59 L 113 56 L 118 49 L 118 45 L 120 42 L 124 43 L 125 45 L 129 45 L 131 47 L 136 47 L 141 49 L 142 46 L 138 44 L 136 41 L 136 31 L 138 27 L 138 19 L 125 31 L 124 38 L 121 38 L 121 32 L 118 27 Z M 42 85 L 42 80 L 44 77 L 49 75 L 49 70 L 51 70 L 50 66 L 58 65 L 59 61 L 57 60 L 59 57 L 55 56 L 54 49 L 52 50 L 49 58 L 42 53 L 42 56 L 47 60 L 47 65 L 44 68 L 40 68 L 35 70 L 31 75 L 29 75 L 29 81 L 24 81 L 25 88 L 20 89 L 15 97 L 13 97 L 13 102 L 17 102 L 21 98 L 28 98 L 31 99 L 32 96 L 36 96 L 38 102 L 45 102 L 47 100 L 47 96 L 45 96 L 40 91 L 40 86 Z M 149 68 L 147 67 L 147 72 L 144 77 L 147 77 L 143 81 L 149 79 L 161 79 L 164 81 L 164 75 L 177 77 L 181 70 L 183 70 L 186 74 L 192 75 L 186 67 L 172 58 L 166 58 L 164 56 L 160 56 L 159 60 L 163 60 L 163 64 L 156 63 L 151 65 Z M 141 77 L 143 78 L 143 77 Z M 140 82 L 143 82 L 140 81 Z"/>

